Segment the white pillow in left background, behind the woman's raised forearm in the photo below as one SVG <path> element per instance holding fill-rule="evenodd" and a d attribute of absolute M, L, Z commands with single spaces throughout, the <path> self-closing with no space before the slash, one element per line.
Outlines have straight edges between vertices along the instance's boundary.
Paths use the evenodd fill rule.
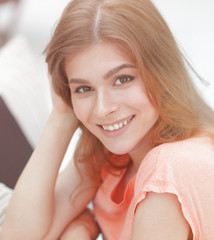
<path fill-rule="evenodd" d="M 48 79 L 36 60 L 23 36 L 0 51 L 0 95 L 33 148 L 50 111 Z"/>

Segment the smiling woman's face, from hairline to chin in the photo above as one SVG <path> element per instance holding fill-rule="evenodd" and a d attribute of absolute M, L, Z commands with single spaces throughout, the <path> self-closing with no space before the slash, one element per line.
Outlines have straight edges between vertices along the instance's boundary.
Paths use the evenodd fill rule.
<path fill-rule="evenodd" d="M 158 119 L 130 57 L 113 44 L 96 44 L 66 59 L 74 112 L 111 152 L 143 147 Z"/>

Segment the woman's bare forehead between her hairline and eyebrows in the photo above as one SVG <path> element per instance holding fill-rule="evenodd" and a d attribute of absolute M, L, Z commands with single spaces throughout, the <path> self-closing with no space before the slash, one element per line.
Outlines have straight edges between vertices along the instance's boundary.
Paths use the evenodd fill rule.
<path fill-rule="evenodd" d="M 124 47 L 114 43 L 93 44 L 65 60 L 67 75 L 89 71 L 106 71 L 120 64 L 133 64 L 133 58 Z"/>

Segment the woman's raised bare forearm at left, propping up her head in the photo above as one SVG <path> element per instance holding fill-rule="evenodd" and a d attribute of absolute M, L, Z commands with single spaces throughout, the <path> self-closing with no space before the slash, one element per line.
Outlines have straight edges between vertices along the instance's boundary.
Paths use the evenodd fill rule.
<path fill-rule="evenodd" d="M 64 115 L 54 114 L 15 187 L 3 225 L 5 240 L 39 240 L 51 226 L 58 170 L 75 130 Z"/>

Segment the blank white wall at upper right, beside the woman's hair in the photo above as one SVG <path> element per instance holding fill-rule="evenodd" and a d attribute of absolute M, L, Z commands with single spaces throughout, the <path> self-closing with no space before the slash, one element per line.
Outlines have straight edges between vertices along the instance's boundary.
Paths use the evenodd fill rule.
<path fill-rule="evenodd" d="M 214 107 L 214 1 L 213 0 L 154 0 L 186 57 L 210 83 L 200 85 L 202 95 Z"/>

